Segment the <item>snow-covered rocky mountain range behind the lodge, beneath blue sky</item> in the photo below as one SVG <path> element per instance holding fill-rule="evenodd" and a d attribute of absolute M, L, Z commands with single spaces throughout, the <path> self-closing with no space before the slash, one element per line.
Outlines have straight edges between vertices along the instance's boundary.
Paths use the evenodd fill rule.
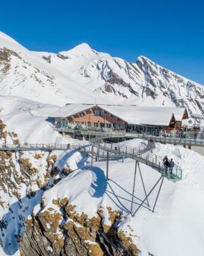
<path fill-rule="evenodd" d="M 203 115 L 204 87 L 144 56 L 136 63 L 97 52 L 87 44 L 62 51 L 28 51 L 0 33 L 0 88 L 43 103 L 68 102 L 186 107 Z"/>

